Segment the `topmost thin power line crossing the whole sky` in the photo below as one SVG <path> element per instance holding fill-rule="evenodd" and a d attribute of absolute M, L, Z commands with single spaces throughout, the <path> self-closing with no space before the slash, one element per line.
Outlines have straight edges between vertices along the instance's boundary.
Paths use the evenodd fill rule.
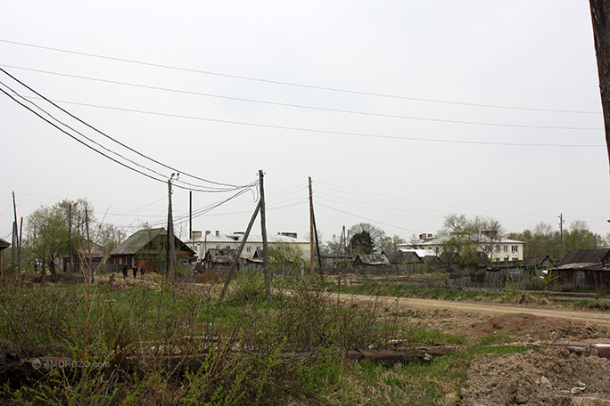
<path fill-rule="evenodd" d="M 112 57 L 112 56 L 99 55 L 99 54 L 95 54 L 95 53 L 83 53 L 83 52 L 78 52 L 78 51 L 70 51 L 70 50 L 66 50 L 66 49 L 54 48 L 51 46 L 34 45 L 34 44 L 27 44 L 27 43 L 22 43 L 22 42 L 18 42 L 18 41 L 10 41 L 7 39 L 0 39 L 0 42 L 4 42 L 6 44 L 12 44 L 12 45 L 29 46 L 32 48 L 45 49 L 48 51 L 55 51 L 55 52 L 60 52 L 60 53 L 71 53 L 71 54 L 75 54 L 75 55 L 99 58 L 99 59 L 104 59 L 104 60 L 108 60 L 108 61 L 128 62 L 128 63 L 134 63 L 134 64 L 138 64 L 138 65 L 143 65 L 143 66 L 150 66 L 150 67 L 154 67 L 154 68 L 172 69 L 172 70 L 179 70 L 179 71 L 183 71 L 183 72 L 198 73 L 198 74 L 211 75 L 211 76 L 217 76 L 217 77 L 228 77 L 228 78 L 233 78 L 233 79 L 249 80 L 249 81 L 260 82 L 260 83 L 268 83 L 268 84 L 272 84 L 272 85 L 287 85 L 287 86 L 301 87 L 301 88 L 306 88 L 306 89 L 324 90 L 327 92 L 350 93 L 350 94 L 359 94 L 359 95 L 365 95 L 365 96 L 386 97 L 386 98 L 391 98 L 391 99 L 409 100 L 409 101 L 415 101 L 415 102 L 433 102 L 433 103 L 452 104 L 452 105 L 459 105 L 459 106 L 483 107 L 483 108 L 488 108 L 488 109 L 529 110 L 529 111 L 544 111 L 544 112 L 552 112 L 552 113 L 572 113 L 572 114 L 597 114 L 597 115 L 601 114 L 599 111 L 539 109 L 539 108 L 505 106 L 505 105 L 485 104 L 485 103 L 453 102 L 453 101 L 445 101 L 445 100 L 438 100 L 438 99 L 401 96 L 401 95 L 388 94 L 388 93 L 363 92 L 363 91 L 357 91 L 357 90 L 341 89 L 341 88 L 337 88 L 337 87 L 328 87 L 328 86 L 320 86 L 320 85 L 304 85 L 304 84 L 299 84 L 299 83 L 294 83 L 294 82 L 263 79 L 260 77 L 245 77 L 245 76 L 239 76 L 239 75 L 231 75 L 231 74 L 227 74 L 227 73 L 213 72 L 213 71 L 209 71 L 209 70 L 181 68 L 181 67 L 177 67 L 177 66 L 164 65 L 161 63 L 135 61 L 135 60 L 129 60 L 126 58 L 117 58 L 117 57 Z"/>

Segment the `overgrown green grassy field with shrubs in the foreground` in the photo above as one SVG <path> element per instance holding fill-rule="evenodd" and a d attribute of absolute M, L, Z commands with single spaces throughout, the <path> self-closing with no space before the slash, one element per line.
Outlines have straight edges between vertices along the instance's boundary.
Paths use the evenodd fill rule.
<path fill-rule="evenodd" d="M 90 286 L 0 281 L 0 347 L 21 359 L 17 369 L 7 368 L 7 360 L 0 368 L 0 402 L 450 405 L 458 402 L 475 357 L 524 350 L 480 348 L 394 365 L 347 361 L 347 350 L 388 348 L 392 339 L 412 346 L 503 339 L 474 342 L 464 334 L 405 328 L 375 301 L 341 304 L 326 288 L 295 280 L 276 280 L 266 301 L 260 275 L 245 273 L 219 302 L 218 285 L 147 277 L 112 286 L 101 281 L 107 277 Z M 409 291 L 350 289 L 388 296 Z M 430 297 L 451 295 L 435 290 Z M 32 368 L 48 355 L 78 367 Z"/>

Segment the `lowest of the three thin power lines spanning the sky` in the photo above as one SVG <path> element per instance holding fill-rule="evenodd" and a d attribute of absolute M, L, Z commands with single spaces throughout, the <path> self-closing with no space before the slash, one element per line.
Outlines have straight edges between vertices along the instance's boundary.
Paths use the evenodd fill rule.
<path fill-rule="evenodd" d="M 251 123 L 245 121 L 235 121 L 235 120 L 223 120 L 218 118 L 203 118 L 203 117 L 195 117 L 195 116 L 186 116 L 182 114 L 171 114 L 171 113 L 161 113 L 158 111 L 147 111 L 147 110 L 136 110 L 136 109 L 124 109 L 120 107 L 113 106 L 103 106 L 99 104 L 91 104 L 91 103 L 81 103 L 81 102 L 69 102 L 63 100 L 54 100 L 57 103 L 64 104 L 73 104 L 76 106 L 85 106 L 85 107 L 93 107 L 95 109 L 105 109 L 105 110 L 117 110 L 117 111 L 125 111 L 130 113 L 139 113 L 139 114 L 148 114 L 152 116 L 161 116 L 161 117 L 170 117 L 170 118 L 185 118 L 199 121 L 209 121 L 212 123 L 222 123 L 222 124 L 231 124 L 237 126 L 255 126 L 261 128 L 274 128 L 279 130 L 289 130 L 289 131 L 302 131 L 306 133 L 317 133 L 317 134 L 334 134 L 334 135 L 350 135 L 350 136 L 358 136 L 358 137 L 367 137 L 367 138 L 382 138 L 382 139 L 390 139 L 390 140 L 402 140 L 402 141 L 420 141 L 420 142 L 447 142 L 447 143 L 458 143 L 458 144 L 473 144 L 473 145 L 500 145 L 500 146 L 521 146 L 521 147 L 559 147 L 559 148 L 606 148 L 606 145 L 603 144 L 548 144 L 548 143 L 524 143 L 524 142 L 484 142 L 484 141 L 464 141 L 464 140 L 446 140 L 446 139 L 435 139 L 435 138 L 421 138 L 421 137 L 400 137 L 394 135 L 383 135 L 383 134 L 367 134 L 367 133 L 350 133 L 344 131 L 331 131 L 331 130 L 320 130 L 315 128 L 306 128 L 306 127 L 293 127 L 293 126 L 275 126 L 270 124 L 260 124 L 260 123 Z"/>

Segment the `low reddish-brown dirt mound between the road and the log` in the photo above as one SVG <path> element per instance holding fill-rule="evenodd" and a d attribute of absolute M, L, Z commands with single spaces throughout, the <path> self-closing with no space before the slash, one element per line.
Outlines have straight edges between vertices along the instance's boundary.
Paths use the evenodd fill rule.
<path fill-rule="evenodd" d="M 519 333 L 538 341 L 591 340 L 603 336 L 598 327 L 587 321 L 548 319 L 527 313 L 502 314 L 473 326 L 472 333 Z"/>

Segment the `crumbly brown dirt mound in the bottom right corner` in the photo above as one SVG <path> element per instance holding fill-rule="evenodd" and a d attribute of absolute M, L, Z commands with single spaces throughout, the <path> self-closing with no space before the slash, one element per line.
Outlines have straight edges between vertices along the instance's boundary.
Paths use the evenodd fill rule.
<path fill-rule="evenodd" d="M 608 405 L 610 360 L 566 349 L 480 358 L 466 372 L 462 406 Z"/>

